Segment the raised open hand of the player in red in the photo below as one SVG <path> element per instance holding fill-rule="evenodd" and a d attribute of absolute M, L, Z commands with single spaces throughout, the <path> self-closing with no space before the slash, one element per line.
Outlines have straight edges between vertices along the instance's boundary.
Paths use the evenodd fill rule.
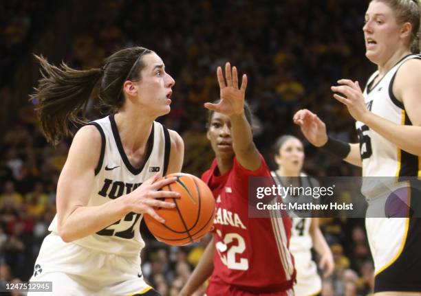
<path fill-rule="evenodd" d="M 225 64 L 225 78 L 221 67 L 217 68 L 217 78 L 219 89 L 221 89 L 221 100 L 218 104 L 205 103 L 205 108 L 228 116 L 243 113 L 247 87 L 246 74 L 243 74 L 241 87 L 239 88 L 237 68 L 231 69 L 230 63 L 227 62 Z"/>

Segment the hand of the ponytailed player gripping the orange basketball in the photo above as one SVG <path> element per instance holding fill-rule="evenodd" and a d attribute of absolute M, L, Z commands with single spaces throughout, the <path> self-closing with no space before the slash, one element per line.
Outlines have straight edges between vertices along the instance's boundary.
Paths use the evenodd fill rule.
<path fill-rule="evenodd" d="M 158 198 L 180 198 L 180 194 L 178 192 L 160 190 L 162 187 L 175 182 L 177 178 L 172 177 L 160 179 L 159 181 L 158 179 L 160 179 L 159 175 L 155 174 L 155 176 L 145 181 L 136 190 L 127 194 L 127 201 L 129 202 L 131 212 L 149 214 L 160 223 L 165 223 L 165 220 L 156 214 L 153 207 L 173 208 L 175 207 L 175 203 L 160 201 Z"/>

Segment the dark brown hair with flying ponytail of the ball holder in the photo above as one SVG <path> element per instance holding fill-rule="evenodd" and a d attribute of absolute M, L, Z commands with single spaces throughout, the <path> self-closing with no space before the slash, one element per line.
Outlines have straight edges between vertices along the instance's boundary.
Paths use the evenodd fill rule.
<path fill-rule="evenodd" d="M 38 102 L 35 109 L 47 140 L 56 144 L 72 135 L 72 125 L 85 123 L 79 113 L 91 96 L 98 96 L 107 111 L 118 111 L 125 102 L 123 84 L 127 80 L 140 80 L 144 68 L 142 56 L 151 52 L 144 47 L 121 49 L 109 56 L 102 68 L 84 71 L 72 69 L 65 62 L 56 67 L 43 56 L 35 55 L 42 78 L 30 100 Z"/>

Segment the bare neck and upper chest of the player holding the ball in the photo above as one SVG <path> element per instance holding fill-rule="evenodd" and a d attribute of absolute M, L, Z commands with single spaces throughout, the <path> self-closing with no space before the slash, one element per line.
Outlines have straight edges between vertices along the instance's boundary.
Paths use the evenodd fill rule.
<path fill-rule="evenodd" d="M 122 111 L 116 113 L 114 119 L 125 150 L 144 150 L 151 134 L 153 118 Z"/>

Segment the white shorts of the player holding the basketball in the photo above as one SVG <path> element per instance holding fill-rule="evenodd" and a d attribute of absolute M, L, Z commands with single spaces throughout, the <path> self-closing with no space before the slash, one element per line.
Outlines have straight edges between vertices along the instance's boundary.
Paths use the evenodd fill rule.
<path fill-rule="evenodd" d="M 41 246 L 30 282 L 52 282 L 53 293 L 28 295 L 133 295 L 147 293 L 140 256 L 102 253 L 48 235 Z"/>

